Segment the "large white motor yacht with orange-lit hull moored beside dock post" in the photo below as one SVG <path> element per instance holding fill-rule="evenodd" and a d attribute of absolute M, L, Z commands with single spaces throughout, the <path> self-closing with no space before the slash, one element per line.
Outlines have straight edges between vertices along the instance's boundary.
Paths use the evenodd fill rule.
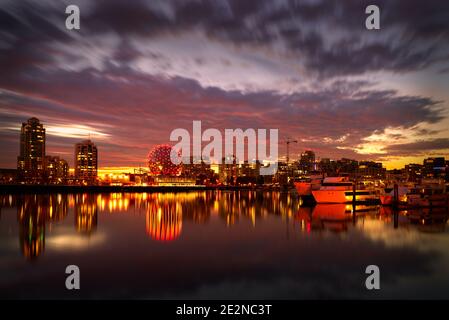
<path fill-rule="evenodd" d="M 355 190 L 354 190 L 355 189 Z M 378 189 L 355 186 L 349 177 L 326 177 L 318 190 L 312 190 L 317 203 L 351 203 L 376 202 L 379 200 Z M 354 199 L 355 196 L 355 199 Z"/>

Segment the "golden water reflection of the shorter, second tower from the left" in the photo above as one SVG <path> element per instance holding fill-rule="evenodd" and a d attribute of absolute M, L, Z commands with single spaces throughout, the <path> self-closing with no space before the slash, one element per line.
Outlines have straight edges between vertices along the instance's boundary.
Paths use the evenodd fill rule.
<path fill-rule="evenodd" d="M 75 227 L 90 234 L 97 229 L 97 198 L 92 194 L 75 195 Z"/>

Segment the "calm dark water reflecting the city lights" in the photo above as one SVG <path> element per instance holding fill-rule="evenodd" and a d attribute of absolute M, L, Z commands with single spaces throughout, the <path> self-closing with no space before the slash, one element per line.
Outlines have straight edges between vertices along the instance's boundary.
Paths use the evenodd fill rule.
<path fill-rule="evenodd" d="M 449 298 L 443 210 L 295 193 L 0 196 L 1 298 Z M 65 268 L 81 290 L 65 288 Z M 378 265 L 381 289 L 365 287 Z"/>

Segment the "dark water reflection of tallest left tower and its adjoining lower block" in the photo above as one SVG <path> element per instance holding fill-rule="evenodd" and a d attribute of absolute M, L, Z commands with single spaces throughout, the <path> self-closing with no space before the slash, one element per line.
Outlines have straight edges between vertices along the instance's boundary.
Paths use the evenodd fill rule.
<path fill-rule="evenodd" d="M 32 259 L 44 252 L 46 224 L 64 219 L 67 209 L 67 196 L 60 194 L 17 198 L 20 247 L 25 257 Z"/>

